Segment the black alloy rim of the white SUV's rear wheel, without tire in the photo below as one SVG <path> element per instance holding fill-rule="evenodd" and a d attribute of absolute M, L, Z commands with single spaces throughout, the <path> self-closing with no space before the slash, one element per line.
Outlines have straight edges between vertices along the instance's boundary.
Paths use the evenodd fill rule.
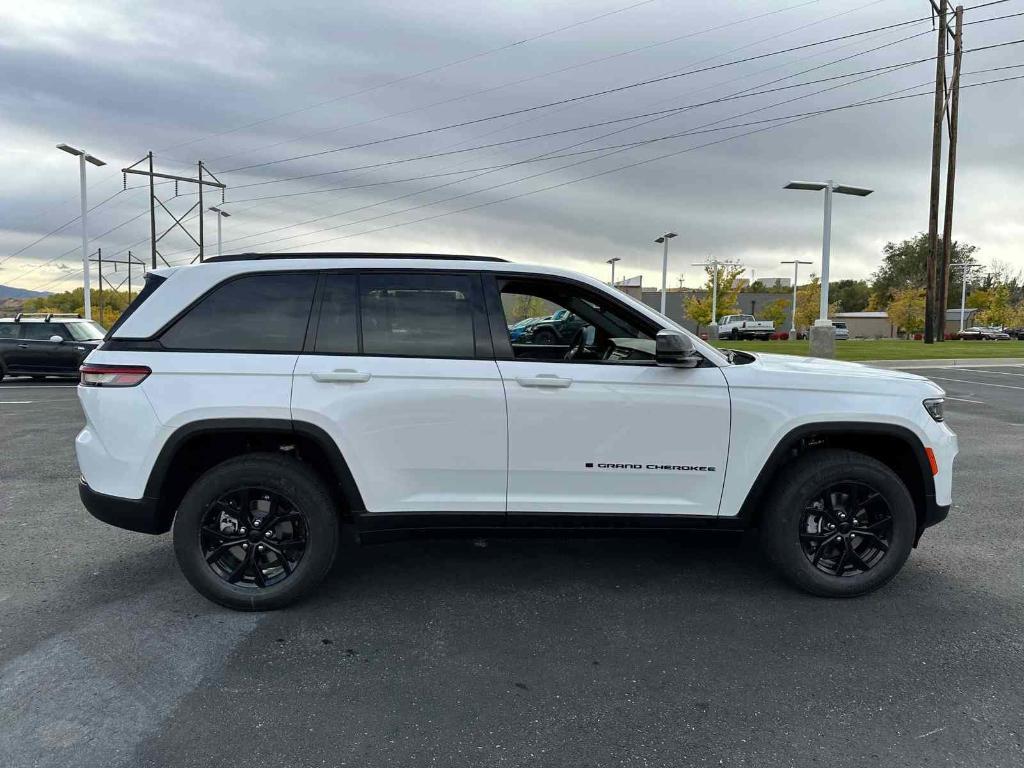
<path fill-rule="evenodd" d="M 296 505 L 260 487 L 229 490 L 207 508 L 200 549 L 210 569 L 251 589 L 288 579 L 306 550 L 308 523 Z"/>

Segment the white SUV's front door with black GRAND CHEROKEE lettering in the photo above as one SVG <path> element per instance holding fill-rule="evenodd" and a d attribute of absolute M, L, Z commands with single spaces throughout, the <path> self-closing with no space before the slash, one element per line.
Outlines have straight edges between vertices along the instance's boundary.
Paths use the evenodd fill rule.
<path fill-rule="evenodd" d="M 514 276 L 494 289 L 506 325 L 557 309 L 588 324 L 560 348 L 499 350 L 510 524 L 521 513 L 717 515 L 729 446 L 722 372 L 656 366 L 658 329 L 596 289 Z"/>

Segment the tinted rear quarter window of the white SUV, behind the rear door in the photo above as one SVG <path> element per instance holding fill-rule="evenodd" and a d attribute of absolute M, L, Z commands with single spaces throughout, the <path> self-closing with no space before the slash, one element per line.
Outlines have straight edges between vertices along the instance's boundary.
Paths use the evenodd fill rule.
<path fill-rule="evenodd" d="M 298 352 L 316 278 L 253 274 L 213 290 L 161 338 L 170 349 Z"/>

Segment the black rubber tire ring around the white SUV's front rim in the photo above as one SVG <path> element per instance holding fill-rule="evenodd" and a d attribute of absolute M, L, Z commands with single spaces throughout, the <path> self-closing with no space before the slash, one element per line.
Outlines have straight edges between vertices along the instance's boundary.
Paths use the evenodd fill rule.
<path fill-rule="evenodd" d="M 800 517 L 811 498 L 834 482 L 860 481 L 882 494 L 893 517 L 889 551 L 866 573 L 835 577 L 819 570 L 804 554 Z M 855 597 L 879 589 L 899 572 L 913 547 L 916 513 L 895 472 L 870 457 L 846 451 L 816 451 L 802 457 L 779 479 L 761 524 L 768 557 L 801 589 L 827 597 Z"/>

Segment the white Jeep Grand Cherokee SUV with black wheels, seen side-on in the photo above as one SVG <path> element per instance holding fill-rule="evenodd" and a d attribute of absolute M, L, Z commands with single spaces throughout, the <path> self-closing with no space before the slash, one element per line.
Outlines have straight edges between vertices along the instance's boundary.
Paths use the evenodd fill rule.
<path fill-rule="evenodd" d="M 524 316 L 581 318 L 559 343 Z M 760 529 L 819 595 L 873 590 L 950 505 L 919 376 L 705 344 L 574 272 L 401 254 L 157 269 L 82 367 L 81 497 L 173 527 L 208 598 L 314 589 L 339 521 L 413 531 Z"/>

